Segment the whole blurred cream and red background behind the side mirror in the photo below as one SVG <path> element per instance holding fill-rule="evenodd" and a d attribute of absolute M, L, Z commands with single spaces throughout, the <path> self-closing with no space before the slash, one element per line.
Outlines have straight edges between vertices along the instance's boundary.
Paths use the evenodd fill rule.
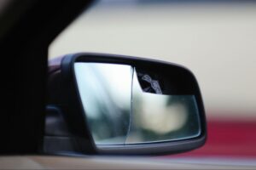
<path fill-rule="evenodd" d="M 49 59 L 77 52 L 186 66 L 201 87 L 208 140 L 200 150 L 177 156 L 256 158 L 253 1 L 97 1 L 51 43 Z"/>

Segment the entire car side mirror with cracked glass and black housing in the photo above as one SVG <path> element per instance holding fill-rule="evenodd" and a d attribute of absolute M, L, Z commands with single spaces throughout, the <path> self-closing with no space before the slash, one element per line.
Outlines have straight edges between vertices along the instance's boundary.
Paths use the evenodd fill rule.
<path fill-rule="evenodd" d="M 84 153 L 172 154 L 206 141 L 201 92 L 183 66 L 113 54 L 68 54 L 61 75 L 65 117 Z"/>

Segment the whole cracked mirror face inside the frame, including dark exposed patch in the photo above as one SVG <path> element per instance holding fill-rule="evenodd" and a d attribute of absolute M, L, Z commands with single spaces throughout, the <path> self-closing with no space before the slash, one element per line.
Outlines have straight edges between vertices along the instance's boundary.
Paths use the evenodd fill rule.
<path fill-rule="evenodd" d="M 177 83 L 177 77 L 157 69 L 107 63 L 78 62 L 74 71 L 86 121 L 99 146 L 201 134 L 195 94 L 181 88 L 186 82 L 180 78 Z"/>

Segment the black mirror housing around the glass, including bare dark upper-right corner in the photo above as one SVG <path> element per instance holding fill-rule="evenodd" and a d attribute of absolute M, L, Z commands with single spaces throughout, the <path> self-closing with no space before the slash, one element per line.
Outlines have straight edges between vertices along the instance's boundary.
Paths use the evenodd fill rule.
<path fill-rule="evenodd" d="M 163 140 L 148 143 L 105 144 L 98 147 L 93 139 L 88 117 L 84 113 L 83 102 L 79 95 L 78 81 L 74 71 L 75 63 L 106 63 L 131 65 L 148 71 L 160 71 L 170 77 L 172 94 L 193 94 L 199 113 L 200 133 L 191 138 Z M 207 122 L 201 91 L 191 71 L 181 65 L 154 59 L 115 54 L 67 54 L 61 61 L 62 85 L 65 88 L 64 105 L 62 108 L 68 127 L 76 140 L 80 152 L 84 154 L 102 155 L 161 155 L 175 154 L 195 150 L 205 144 L 207 139 Z"/>

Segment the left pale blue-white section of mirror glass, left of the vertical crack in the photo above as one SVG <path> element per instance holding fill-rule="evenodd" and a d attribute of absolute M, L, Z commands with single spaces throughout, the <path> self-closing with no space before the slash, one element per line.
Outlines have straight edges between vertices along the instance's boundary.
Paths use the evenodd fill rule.
<path fill-rule="evenodd" d="M 131 115 L 130 65 L 75 63 L 79 94 L 96 144 L 124 144 Z"/>

